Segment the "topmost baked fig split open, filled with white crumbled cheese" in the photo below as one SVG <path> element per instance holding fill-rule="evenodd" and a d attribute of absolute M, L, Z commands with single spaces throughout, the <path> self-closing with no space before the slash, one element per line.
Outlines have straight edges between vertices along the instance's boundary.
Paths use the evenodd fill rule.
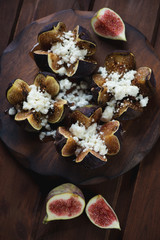
<path fill-rule="evenodd" d="M 46 26 L 37 41 L 32 54 L 42 71 L 60 76 L 84 77 L 91 75 L 96 68 L 97 62 L 92 58 L 96 44 L 82 26 L 67 31 L 63 22 L 56 22 L 52 24 L 52 29 L 51 25 Z"/>

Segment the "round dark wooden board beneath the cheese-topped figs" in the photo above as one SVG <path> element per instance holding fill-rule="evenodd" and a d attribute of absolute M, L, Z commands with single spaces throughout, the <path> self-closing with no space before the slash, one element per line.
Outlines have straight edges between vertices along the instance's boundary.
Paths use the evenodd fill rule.
<path fill-rule="evenodd" d="M 160 61 L 149 46 L 146 38 L 135 28 L 126 24 L 127 42 L 102 39 L 91 29 L 90 20 L 94 12 L 66 10 L 47 16 L 28 25 L 7 47 L 1 58 L 1 115 L 0 137 L 25 167 L 47 176 L 60 176 L 74 183 L 99 181 L 106 177 L 116 177 L 137 165 L 151 150 L 159 136 L 160 108 L 159 100 L 151 101 L 147 111 L 140 118 L 122 122 L 124 134 L 121 150 L 108 162 L 97 169 L 86 169 L 70 159 L 62 158 L 56 151 L 54 143 L 42 143 L 36 134 L 25 132 L 11 116 L 5 113 L 10 107 L 5 92 L 8 84 L 21 78 L 29 84 L 39 71 L 29 56 L 36 43 L 37 34 L 47 24 L 63 21 L 68 29 L 76 25 L 87 28 L 97 44 L 96 59 L 99 66 L 104 65 L 106 55 L 118 49 L 134 53 L 137 67 L 148 66 L 153 69 L 157 92 L 160 90 Z"/>

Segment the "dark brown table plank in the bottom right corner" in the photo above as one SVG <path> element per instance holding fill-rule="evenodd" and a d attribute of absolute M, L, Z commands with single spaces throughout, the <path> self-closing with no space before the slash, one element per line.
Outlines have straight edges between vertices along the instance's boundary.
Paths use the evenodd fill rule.
<path fill-rule="evenodd" d="M 124 240 L 159 239 L 159 144 L 160 140 L 139 169 Z"/>

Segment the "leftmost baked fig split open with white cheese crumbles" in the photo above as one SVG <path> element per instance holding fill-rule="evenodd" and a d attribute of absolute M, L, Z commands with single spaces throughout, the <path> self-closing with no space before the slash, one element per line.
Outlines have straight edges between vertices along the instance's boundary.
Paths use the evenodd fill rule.
<path fill-rule="evenodd" d="M 56 78 L 46 72 L 37 74 L 32 85 L 16 79 L 7 90 L 7 100 L 16 109 L 15 120 L 27 120 L 34 130 L 61 121 L 67 101 L 55 101 L 59 90 Z"/>

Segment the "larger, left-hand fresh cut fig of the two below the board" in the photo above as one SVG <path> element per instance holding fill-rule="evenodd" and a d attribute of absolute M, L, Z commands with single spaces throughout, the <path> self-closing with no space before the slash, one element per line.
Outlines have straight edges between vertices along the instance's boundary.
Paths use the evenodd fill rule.
<path fill-rule="evenodd" d="M 71 183 L 62 184 L 51 190 L 47 196 L 43 223 L 78 217 L 84 207 L 85 199 L 81 190 Z"/>

